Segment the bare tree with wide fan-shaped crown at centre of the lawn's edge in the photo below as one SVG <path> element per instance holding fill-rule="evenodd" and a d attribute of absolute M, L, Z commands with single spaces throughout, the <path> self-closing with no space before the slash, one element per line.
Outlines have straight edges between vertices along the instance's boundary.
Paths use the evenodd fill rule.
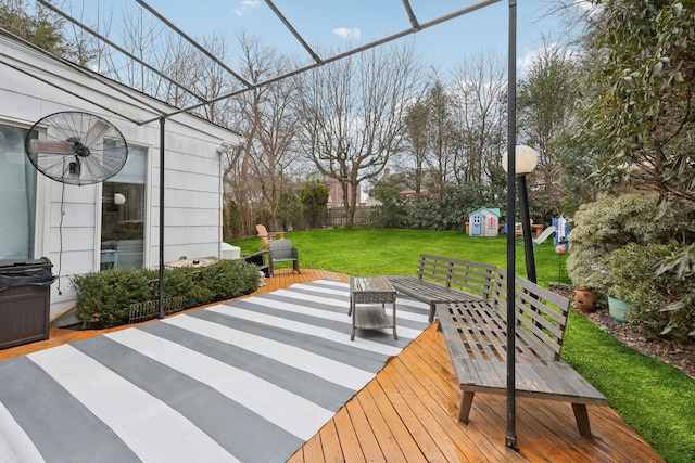
<path fill-rule="evenodd" d="M 305 76 L 300 99 L 302 149 L 338 180 L 354 224 L 359 183 L 379 176 L 405 130 L 406 102 L 420 91 L 413 48 L 372 49 Z"/>

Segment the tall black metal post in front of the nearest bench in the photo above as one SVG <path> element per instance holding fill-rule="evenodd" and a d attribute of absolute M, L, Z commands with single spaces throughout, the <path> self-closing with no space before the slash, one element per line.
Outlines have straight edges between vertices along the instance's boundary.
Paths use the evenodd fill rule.
<path fill-rule="evenodd" d="M 507 223 L 514 223 L 517 132 L 517 2 L 509 0 L 509 62 L 507 77 Z M 514 227 L 507 224 L 507 433 L 505 446 L 518 451 L 516 430 L 516 243 Z"/>

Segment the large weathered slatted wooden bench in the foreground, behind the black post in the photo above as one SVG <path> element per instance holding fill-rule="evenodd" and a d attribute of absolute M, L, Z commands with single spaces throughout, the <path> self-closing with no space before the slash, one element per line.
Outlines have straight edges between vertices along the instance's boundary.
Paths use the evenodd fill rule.
<path fill-rule="evenodd" d="M 439 305 L 437 316 L 452 357 L 463 396 L 458 420 L 468 423 L 476 393 L 506 395 L 506 271 L 484 269 L 485 297 Z M 467 270 L 470 271 L 470 270 Z M 489 271 L 489 272 L 488 272 Z M 479 285 L 479 271 L 472 285 Z M 460 273 L 460 272 L 459 272 Z M 489 278 L 488 278 L 489 275 Z M 569 300 L 516 278 L 516 395 L 570 402 L 579 433 L 591 438 L 586 404 L 606 406 L 606 398 L 560 359 Z"/>

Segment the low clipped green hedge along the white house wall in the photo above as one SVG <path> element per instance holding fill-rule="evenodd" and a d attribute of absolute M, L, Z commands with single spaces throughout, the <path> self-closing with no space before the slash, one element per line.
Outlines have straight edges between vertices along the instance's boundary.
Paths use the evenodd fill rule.
<path fill-rule="evenodd" d="M 159 270 L 105 270 L 75 275 L 77 318 L 88 329 L 128 323 L 130 304 L 159 299 Z M 166 297 L 184 297 L 185 308 L 193 308 L 253 293 L 258 286 L 258 269 L 243 260 L 220 260 L 201 268 L 167 269 Z"/>

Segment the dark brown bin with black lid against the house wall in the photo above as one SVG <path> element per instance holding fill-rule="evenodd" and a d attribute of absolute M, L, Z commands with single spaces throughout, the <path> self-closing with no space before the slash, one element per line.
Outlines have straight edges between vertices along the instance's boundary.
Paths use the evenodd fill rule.
<path fill-rule="evenodd" d="M 48 339 L 53 265 L 0 260 L 0 349 Z"/>

